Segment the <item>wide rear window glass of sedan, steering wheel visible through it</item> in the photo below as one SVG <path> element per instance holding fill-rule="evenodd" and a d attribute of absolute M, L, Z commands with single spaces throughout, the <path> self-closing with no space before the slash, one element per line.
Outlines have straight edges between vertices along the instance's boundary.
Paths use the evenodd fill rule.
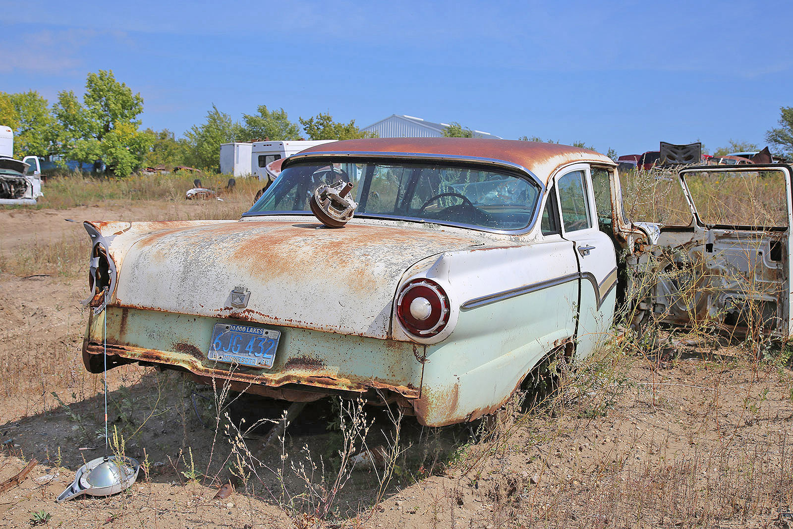
<path fill-rule="evenodd" d="M 322 184 L 353 183 L 358 217 L 407 218 L 439 224 L 516 230 L 534 218 L 539 187 L 491 168 L 442 163 L 300 163 L 286 167 L 245 216 L 310 214 Z"/>

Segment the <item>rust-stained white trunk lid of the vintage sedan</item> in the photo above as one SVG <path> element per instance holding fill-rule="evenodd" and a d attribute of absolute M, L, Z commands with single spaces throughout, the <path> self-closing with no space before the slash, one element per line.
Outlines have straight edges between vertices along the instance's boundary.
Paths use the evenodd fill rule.
<path fill-rule="evenodd" d="M 460 230 L 365 222 L 339 229 L 305 220 L 181 226 L 127 247 L 113 305 L 385 339 L 404 270 L 481 243 Z M 113 244 L 110 250 L 114 255 Z M 235 289 L 250 292 L 245 305 L 232 303 L 239 301 Z"/>

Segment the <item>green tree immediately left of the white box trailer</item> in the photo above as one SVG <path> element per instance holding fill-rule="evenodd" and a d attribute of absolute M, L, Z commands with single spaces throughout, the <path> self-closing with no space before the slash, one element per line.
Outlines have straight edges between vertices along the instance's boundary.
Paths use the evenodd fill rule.
<path fill-rule="evenodd" d="M 242 135 L 242 125 L 212 105 L 212 110 L 206 113 L 206 121 L 185 132 L 190 147 L 187 162 L 193 167 L 220 171 L 220 144 L 239 140 Z"/>

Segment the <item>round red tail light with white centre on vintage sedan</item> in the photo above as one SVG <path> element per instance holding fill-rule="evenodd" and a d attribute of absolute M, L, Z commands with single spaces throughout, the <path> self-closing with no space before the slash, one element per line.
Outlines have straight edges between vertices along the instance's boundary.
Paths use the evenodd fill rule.
<path fill-rule="evenodd" d="M 397 298 L 397 317 L 411 334 L 434 336 L 449 323 L 449 297 L 431 279 L 413 279 Z"/>

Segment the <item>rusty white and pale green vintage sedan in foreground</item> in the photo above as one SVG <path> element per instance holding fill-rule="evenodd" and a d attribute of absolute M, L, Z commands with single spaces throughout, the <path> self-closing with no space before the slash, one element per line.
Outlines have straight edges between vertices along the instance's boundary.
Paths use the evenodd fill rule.
<path fill-rule="evenodd" d="M 615 167 L 557 144 L 347 140 L 285 159 L 240 220 L 86 221 L 86 368 L 473 420 L 546 355 L 589 355 L 609 334 L 618 254 L 653 242 L 625 219 Z M 308 201 L 336 179 L 357 209 L 327 228 Z"/>

